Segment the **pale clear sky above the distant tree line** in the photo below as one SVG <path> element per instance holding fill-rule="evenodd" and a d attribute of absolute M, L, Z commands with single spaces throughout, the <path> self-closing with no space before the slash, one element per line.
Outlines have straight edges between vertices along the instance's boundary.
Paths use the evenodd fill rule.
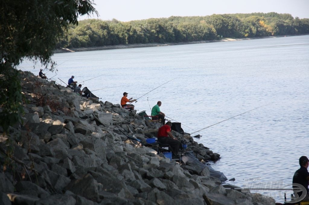
<path fill-rule="evenodd" d="M 294 18 L 309 18 L 309 0 L 94 0 L 99 17 L 84 15 L 79 20 L 99 18 L 122 21 L 170 16 L 207 16 L 276 12 Z"/>

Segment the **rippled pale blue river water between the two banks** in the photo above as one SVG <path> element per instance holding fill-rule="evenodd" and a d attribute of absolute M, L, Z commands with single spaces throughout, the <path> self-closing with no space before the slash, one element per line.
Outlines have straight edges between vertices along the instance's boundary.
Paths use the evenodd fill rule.
<path fill-rule="evenodd" d="M 221 155 L 211 164 L 236 179 L 227 183 L 291 188 L 299 157 L 309 155 L 308 57 L 305 35 L 54 54 L 58 71 L 46 75 L 57 74 L 53 79 L 62 85 L 58 78 L 67 83 L 74 75 L 114 104 L 123 92 L 139 98 L 173 79 L 139 98 L 135 108 L 150 115 L 160 100 L 161 111 L 187 133 L 260 107 L 192 136 L 202 135 L 195 140 Z M 19 69 L 38 74 L 40 66 L 25 61 Z M 252 192 L 282 202 L 278 191 Z"/>

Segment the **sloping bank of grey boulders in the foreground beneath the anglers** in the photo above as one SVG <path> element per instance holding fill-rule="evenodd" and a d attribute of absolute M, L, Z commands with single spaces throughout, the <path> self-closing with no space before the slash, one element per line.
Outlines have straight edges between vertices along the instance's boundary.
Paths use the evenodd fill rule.
<path fill-rule="evenodd" d="M 160 123 L 31 72 L 20 74 L 28 104 L 23 123 L 0 133 L 0 204 L 275 204 L 225 189 L 207 167 L 171 161 L 127 139 L 155 137 Z M 189 134 L 172 133 L 200 161 L 220 157 Z"/>

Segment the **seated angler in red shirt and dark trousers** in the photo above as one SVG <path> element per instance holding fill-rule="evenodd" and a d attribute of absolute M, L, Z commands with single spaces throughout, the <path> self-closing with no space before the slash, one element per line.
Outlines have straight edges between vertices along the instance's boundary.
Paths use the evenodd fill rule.
<path fill-rule="evenodd" d="M 168 144 L 171 146 L 171 151 L 174 155 L 178 156 L 178 152 L 181 146 L 181 143 L 174 137 L 171 133 L 171 125 L 172 123 L 168 121 L 159 128 L 158 131 L 158 142 L 162 144 Z"/>

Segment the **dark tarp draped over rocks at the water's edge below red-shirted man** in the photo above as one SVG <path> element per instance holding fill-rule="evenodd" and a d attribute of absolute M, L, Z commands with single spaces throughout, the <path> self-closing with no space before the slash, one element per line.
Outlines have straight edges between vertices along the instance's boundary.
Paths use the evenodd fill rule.
<path fill-rule="evenodd" d="M 193 151 L 185 152 L 184 156 L 181 157 L 181 160 L 184 162 L 185 165 L 194 166 L 195 168 L 198 169 L 199 172 L 201 172 L 205 167 L 208 167 L 210 176 L 220 179 L 221 182 L 224 182 L 227 180 L 226 176 L 222 172 L 214 170 L 210 165 L 201 163 L 193 155 Z"/>

